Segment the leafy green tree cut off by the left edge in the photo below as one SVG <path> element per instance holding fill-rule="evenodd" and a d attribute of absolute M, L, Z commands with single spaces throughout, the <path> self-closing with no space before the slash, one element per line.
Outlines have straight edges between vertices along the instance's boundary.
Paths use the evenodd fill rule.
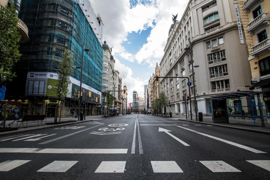
<path fill-rule="evenodd" d="M 12 81 L 14 64 L 20 60 L 18 42 L 21 40 L 18 27 L 18 14 L 15 5 L 0 6 L 0 84 Z"/>

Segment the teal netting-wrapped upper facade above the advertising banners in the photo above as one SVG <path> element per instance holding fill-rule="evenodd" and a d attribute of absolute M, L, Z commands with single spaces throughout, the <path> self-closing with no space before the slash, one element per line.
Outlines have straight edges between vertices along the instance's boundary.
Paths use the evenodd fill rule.
<path fill-rule="evenodd" d="M 75 67 L 81 66 L 84 44 L 89 52 L 84 51 L 82 83 L 101 92 L 103 49 L 85 11 L 73 0 L 22 1 L 20 18 L 29 29 L 29 40 L 20 47 L 22 57 L 16 71 L 57 73 L 61 54 L 69 49 L 71 77 L 80 81 L 81 69 Z"/>

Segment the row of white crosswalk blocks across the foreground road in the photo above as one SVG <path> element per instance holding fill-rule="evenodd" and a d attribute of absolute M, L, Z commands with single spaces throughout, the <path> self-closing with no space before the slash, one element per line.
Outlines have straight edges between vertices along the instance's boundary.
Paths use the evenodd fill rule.
<path fill-rule="evenodd" d="M 71 168 L 74 168 L 74 165 L 79 161 L 67 161 L 67 160 L 55 160 L 44 167 L 34 167 L 34 171 L 36 172 L 56 172 L 56 173 L 64 173 Z M 130 161 L 128 161 L 130 162 Z M 245 162 L 251 163 L 254 166 L 260 167 L 270 172 L 270 160 L 246 160 Z M 247 165 L 245 162 L 242 165 Z M 31 160 L 7 160 L 0 163 L 0 171 L 10 171 L 12 169 L 21 168 L 23 171 L 25 167 L 23 166 L 26 163 L 31 163 Z M 152 173 L 185 173 L 180 168 L 180 163 L 175 161 L 150 161 L 152 166 Z M 210 161 L 195 161 L 195 166 L 200 169 L 200 171 L 205 172 L 213 172 L 213 173 L 241 173 L 242 167 L 233 167 L 231 164 L 224 162 L 222 160 L 210 160 Z M 94 173 L 124 173 L 129 169 L 126 168 L 127 161 L 101 161 L 97 169 L 95 169 Z M 234 163 L 232 163 L 234 164 Z M 205 169 L 201 169 L 203 166 Z M 38 170 L 35 170 L 38 169 Z M 40 169 L 39 169 L 40 168 Z M 186 168 L 186 167 L 183 167 Z M 93 168 L 89 168 L 93 169 Z M 243 168 L 244 169 L 244 168 Z M 130 169 L 133 171 L 133 169 Z M 187 172 L 187 171 L 186 171 Z"/>

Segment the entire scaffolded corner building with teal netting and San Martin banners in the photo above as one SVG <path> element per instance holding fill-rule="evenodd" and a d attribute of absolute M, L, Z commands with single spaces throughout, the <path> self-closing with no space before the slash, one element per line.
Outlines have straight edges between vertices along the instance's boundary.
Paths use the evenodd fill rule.
<path fill-rule="evenodd" d="M 22 56 L 15 67 L 17 78 L 7 84 L 6 98 L 22 102 L 21 112 L 24 114 L 53 117 L 57 105 L 58 64 L 62 53 L 68 49 L 73 59 L 73 71 L 69 93 L 63 102 L 63 115 L 69 116 L 72 111 L 77 111 L 80 96 L 86 115 L 100 114 L 103 22 L 90 2 L 23 0 L 19 18 L 28 27 L 29 39 L 20 45 Z M 89 52 L 83 51 L 83 44 Z"/>

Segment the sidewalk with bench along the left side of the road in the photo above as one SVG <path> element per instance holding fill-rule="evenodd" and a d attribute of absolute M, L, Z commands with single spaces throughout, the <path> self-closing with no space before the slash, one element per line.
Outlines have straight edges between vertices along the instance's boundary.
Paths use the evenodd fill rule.
<path fill-rule="evenodd" d="M 78 120 L 78 118 L 76 118 Z M 61 118 L 61 121 L 70 121 L 70 120 L 76 120 L 75 118 L 72 117 L 64 117 Z M 83 122 L 88 122 L 88 121 L 96 121 L 99 119 L 103 119 L 101 118 L 101 116 L 86 116 L 85 120 L 83 121 L 76 121 L 76 122 L 71 122 L 71 123 L 63 123 L 63 124 L 54 124 L 54 125 L 40 125 L 38 126 L 38 122 L 37 121 L 30 121 L 28 122 L 28 125 L 26 128 L 24 128 L 22 125 L 18 130 L 14 130 L 14 131 L 6 131 L 6 132 L 0 132 L 0 136 L 5 136 L 5 135 L 9 135 L 9 134 L 15 134 L 15 133 L 22 133 L 22 132 L 28 132 L 28 131 L 34 131 L 34 130 L 38 130 L 38 129 L 47 129 L 47 128 L 51 128 L 51 127 L 58 127 L 58 126 L 63 126 L 63 125 L 72 125 L 72 124 L 78 124 L 78 123 L 83 123 Z M 59 118 L 58 118 L 59 121 Z M 7 121 L 6 124 L 8 124 L 10 121 Z M 54 118 L 47 118 L 46 123 L 49 122 L 54 122 Z M 14 122 L 13 125 L 11 127 L 16 127 L 17 122 Z M 78 126 L 78 125 L 76 125 Z"/>

